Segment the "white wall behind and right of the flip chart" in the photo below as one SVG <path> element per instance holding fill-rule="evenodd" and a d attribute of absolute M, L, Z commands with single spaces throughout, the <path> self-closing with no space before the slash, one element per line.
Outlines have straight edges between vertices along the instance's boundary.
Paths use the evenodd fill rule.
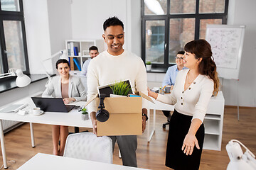
<path fill-rule="evenodd" d="M 235 106 L 238 102 L 240 106 L 256 106 L 256 16 L 255 0 L 235 0 L 229 1 L 228 24 L 245 25 L 245 39 L 242 48 L 242 61 L 240 65 L 239 86 L 237 81 L 224 79 L 223 95 L 225 105 Z"/>

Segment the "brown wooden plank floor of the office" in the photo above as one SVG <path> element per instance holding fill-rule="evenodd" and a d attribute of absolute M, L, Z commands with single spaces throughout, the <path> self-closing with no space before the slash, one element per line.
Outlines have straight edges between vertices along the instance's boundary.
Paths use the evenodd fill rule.
<path fill-rule="evenodd" d="M 138 136 L 137 162 L 140 168 L 168 169 L 164 166 L 164 162 L 169 126 L 166 127 L 166 130 L 162 128 L 166 117 L 161 111 L 156 112 L 156 119 L 156 132 L 150 143 L 146 142 L 146 133 Z M 16 162 L 15 164 L 8 163 L 9 170 L 17 169 L 38 152 L 52 153 L 51 126 L 33 125 L 36 139 L 35 148 L 31 147 L 28 123 L 6 133 L 7 160 Z M 73 128 L 70 128 L 70 131 L 73 132 Z M 220 152 L 203 150 L 200 169 L 226 169 L 229 158 L 225 145 L 233 139 L 240 140 L 253 154 L 256 154 L 256 108 L 240 108 L 240 120 L 238 121 L 237 109 L 230 106 L 225 107 L 222 149 Z M 0 164 L 3 164 L 2 157 L 0 157 Z M 122 159 L 118 157 L 117 146 L 114 149 L 114 164 L 122 164 Z"/>

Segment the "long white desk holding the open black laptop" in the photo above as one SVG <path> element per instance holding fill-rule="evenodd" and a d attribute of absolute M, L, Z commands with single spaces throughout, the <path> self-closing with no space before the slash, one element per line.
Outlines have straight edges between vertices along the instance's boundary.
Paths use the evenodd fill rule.
<path fill-rule="evenodd" d="M 36 96 L 35 94 L 33 96 Z M 14 103 L 27 103 L 32 108 L 35 107 L 31 96 L 23 98 L 20 101 L 16 101 Z M 82 105 L 85 102 L 77 102 L 73 103 L 75 105 Z M 43 115 L 18 115 L 16 113 L 0 113 L 0 139 L 1 139 L 1 151 L 3 155 L 4 161 L 4 169 L 7 168 L 6 162 L 6 151 L 4 145 L 4 132 L 3 132 L 3 125 L 2 120 L 15 120 L 19 122 L 27 122 L 30 123 L 31 127 L 31 142 L 32 147 L 35 147 L 35 142 L 33 138 L 33 124 L 32 123 L 41 123 L 41 124 L 48 124 L 48 125 L 67 125 L 67 126 L 77 126 L 82 128 L 92 128 L 91 120 L 82 120 L 81 113 L 78 113 L 77 110 L 70 111 L 69 113 L 54 113 L 54 112 L 46 112 Z"/>

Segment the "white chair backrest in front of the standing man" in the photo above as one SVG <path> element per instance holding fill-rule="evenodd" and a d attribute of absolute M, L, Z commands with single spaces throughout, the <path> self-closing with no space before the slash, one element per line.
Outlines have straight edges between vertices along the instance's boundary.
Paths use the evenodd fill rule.
<path fill-rule="evenodd" d="M 63 156 L 112 164 L 112 140 L 107 136 L 97 137 L 92 132 L 68 135 Z"/>

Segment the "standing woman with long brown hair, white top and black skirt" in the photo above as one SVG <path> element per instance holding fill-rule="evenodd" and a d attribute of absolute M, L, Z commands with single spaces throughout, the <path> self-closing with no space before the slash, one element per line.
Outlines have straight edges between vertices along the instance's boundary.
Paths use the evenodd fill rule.
<path fill-rule="evenodd" d="M 166 166 L 172 169 L 199 169 L 203 149 L 204 126 L 208 103 L 218 94 L 219 79 L 210 44 L 193 40 L 185 47 L 183 63 L 188 69 L 178 72 L 170 95 L 149 96 L 174 105 L 166 149 Z M 195 147 L 196 146 L 196 147 Z M 194 148 L 195 147 L 195 148 Z"/>

